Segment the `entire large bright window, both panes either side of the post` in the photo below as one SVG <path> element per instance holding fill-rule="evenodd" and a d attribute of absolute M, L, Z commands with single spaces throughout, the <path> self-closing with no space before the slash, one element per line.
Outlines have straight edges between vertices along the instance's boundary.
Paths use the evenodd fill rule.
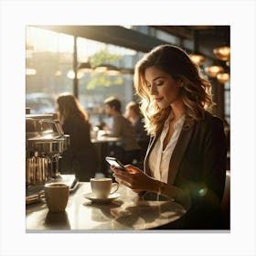
<path fill-rule="evenodd" d="M 73 93 L 74 37 L 37 27 L 27 27 L 26 105 L 31 113 L 55 112 L 59 93 Z M 134 100 L 133 68 L 143 53 L 77 37 L 77 62 L 90 62 L 91 70 L 79 71 L 78 98 L 91 123 L 107 122 L 103 101 L 117 96 L 124 106 Z M 102 64 L 116 72 L 100 69 Z M 98 67 L 98 68 L 97 68 Z"/>

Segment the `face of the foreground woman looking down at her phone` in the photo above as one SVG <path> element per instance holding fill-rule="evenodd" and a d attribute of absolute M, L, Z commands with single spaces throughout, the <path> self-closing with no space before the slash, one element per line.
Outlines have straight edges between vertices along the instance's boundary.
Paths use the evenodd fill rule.
<path fill-rule="evenodd" d="M 150 94 L 161 109 L 181 101 L 179 83 L 172 76 L 154 66 L 145 69 L 145 82 Z"/>

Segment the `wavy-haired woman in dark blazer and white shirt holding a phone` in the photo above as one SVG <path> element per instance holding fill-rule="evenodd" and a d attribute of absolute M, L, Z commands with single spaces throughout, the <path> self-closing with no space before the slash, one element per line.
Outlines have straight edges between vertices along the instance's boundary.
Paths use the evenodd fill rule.
<path fill-rule="evenodd" d="M 187 208 L 181 229 L 221 229 L 225 134 L 221 120 L 208 112 L 208 80 L 181 48 L 162 45 L 137 63 L 134 86 L 151 141 L 144 172 L 112 166 L 115 178 L 140 194 L 181 203 Z"/>

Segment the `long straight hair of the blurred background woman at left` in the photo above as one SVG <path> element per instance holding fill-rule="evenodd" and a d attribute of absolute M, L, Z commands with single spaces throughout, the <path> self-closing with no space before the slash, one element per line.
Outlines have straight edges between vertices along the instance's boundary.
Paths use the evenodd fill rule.
<path fill-rule="evenodd" d="M 57 98 L 59 105 L 59 123 L 64 123 L 67 118 L 73 116 L 79 116 L 82 120 L 89 123 L 89 118 L 87 112 L 85 112 L 81 105 L 80 101 L 72 95 L 63 93 Z"/>

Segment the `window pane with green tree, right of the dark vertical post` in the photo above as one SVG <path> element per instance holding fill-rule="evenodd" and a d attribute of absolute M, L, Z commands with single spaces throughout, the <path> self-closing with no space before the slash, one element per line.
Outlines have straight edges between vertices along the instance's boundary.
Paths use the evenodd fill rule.
<path fill-rule="evenodd" d="M 142 53 L 86 38 L 78 37 L 77 42 L 79 65 L 90 62 L 92 68 L 80 75 L 80 102 L 90 113 L 91 123 L 108 123 L 103 114 L 103 101 L 116 96 L 122 101 L 123 111 L 125 104 L 133 101 L 133 67 Z M 106 64 L 116 71 L 101 69 Z"/>

